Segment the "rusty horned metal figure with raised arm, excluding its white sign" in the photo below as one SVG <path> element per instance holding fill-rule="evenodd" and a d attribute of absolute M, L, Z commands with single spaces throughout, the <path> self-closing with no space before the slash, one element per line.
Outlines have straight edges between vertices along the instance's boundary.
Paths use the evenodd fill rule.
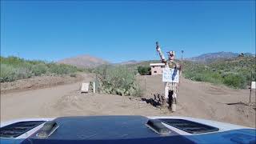
<path fill-rule="evenodd" d="M 175 59 L 174 51 L 167 52 L 169 58 L 168 58 L 168 60 L 166 60 L 164 54 L 162 54 L 162 50 L 161 50 L 158 42 L 156 42 L 156 49 L 161 58 L 161 61 L 163 63 L 165 63 L 166 68 L 170 68 L 170 69 L 174 69 L 174 70 L 181 70 L 181 66 L 178 64 L 178 62 L 174 62 L 174 59 Z M 171 110 L 174 112 L 174 111 L 176 111 L 176 104 L 177 104 L 178 83 L 176 83 L 176 82 L 166 82 L 165 83 L 165 98 L 162 101 L 162 107 L 168 106 L 167 100 L 169 98 L 169 94 L 171 96 L 170 97 L 171 100 L 169 101 L 169 102 L 171 102 Z"/>

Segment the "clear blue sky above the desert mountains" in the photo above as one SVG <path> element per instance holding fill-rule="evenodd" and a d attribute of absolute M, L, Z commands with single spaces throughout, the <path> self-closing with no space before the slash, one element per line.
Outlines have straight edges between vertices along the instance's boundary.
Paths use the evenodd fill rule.
<path fill-rule="evenodd" d="M 110 62 L 232 51 L 255 54 L 255 1 L 1 1 L 1 55 Z"/>

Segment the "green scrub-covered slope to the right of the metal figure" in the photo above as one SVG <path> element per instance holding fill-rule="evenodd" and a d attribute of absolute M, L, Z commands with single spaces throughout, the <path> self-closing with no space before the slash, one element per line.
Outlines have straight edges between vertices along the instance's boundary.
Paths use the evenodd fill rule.
<path fill-rule="evenodd" d="M 210 64 L 198 64 L 196 62 L 184 62 L 183 74 L 199 82 L 211 82 L 224 84 L 236 89 L 245 89 L 250 82 L 255 81 L 255 58 L 231 58 L 219 60 Z M 253 78 L 251 78 L 251 74 Z"/>

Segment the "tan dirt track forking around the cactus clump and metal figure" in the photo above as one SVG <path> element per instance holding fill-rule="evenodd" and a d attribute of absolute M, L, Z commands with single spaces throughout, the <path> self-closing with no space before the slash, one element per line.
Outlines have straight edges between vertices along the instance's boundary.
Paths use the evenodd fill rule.
<path fill-rule="evenodd" d="M 86 75 L 84 82 L 92 78 Z M 255 110 L 246 102 L 249 90 L 233 90 L 182 78 L 177 112 L 160 110 L 152 98 L 162 94 L 161 76 L 139 77 L 145 94 L 142 98 L 108 94 L 80 94 L 81 82 L 38 90 L 1 94 L 1 121 L 13 118 L 50 118 L 69 115 L 140 114 L 182 115 L 255 127 Z M 145 86 L 146 84 L 146 86 Z M 143 99 L 143 100 L 142 100 Z M 255 94 L 252 100 L 255 103 Z"/>

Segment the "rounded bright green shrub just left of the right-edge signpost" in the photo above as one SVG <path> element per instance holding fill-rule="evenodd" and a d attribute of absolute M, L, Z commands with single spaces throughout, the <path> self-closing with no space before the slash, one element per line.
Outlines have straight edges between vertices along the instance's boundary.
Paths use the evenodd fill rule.
<path fill-rule="evenodd" d="M 223 83 L 226 86 L 243 89 L 246 87 L 246 78 L 241 74 L 226 74 Z"/>

